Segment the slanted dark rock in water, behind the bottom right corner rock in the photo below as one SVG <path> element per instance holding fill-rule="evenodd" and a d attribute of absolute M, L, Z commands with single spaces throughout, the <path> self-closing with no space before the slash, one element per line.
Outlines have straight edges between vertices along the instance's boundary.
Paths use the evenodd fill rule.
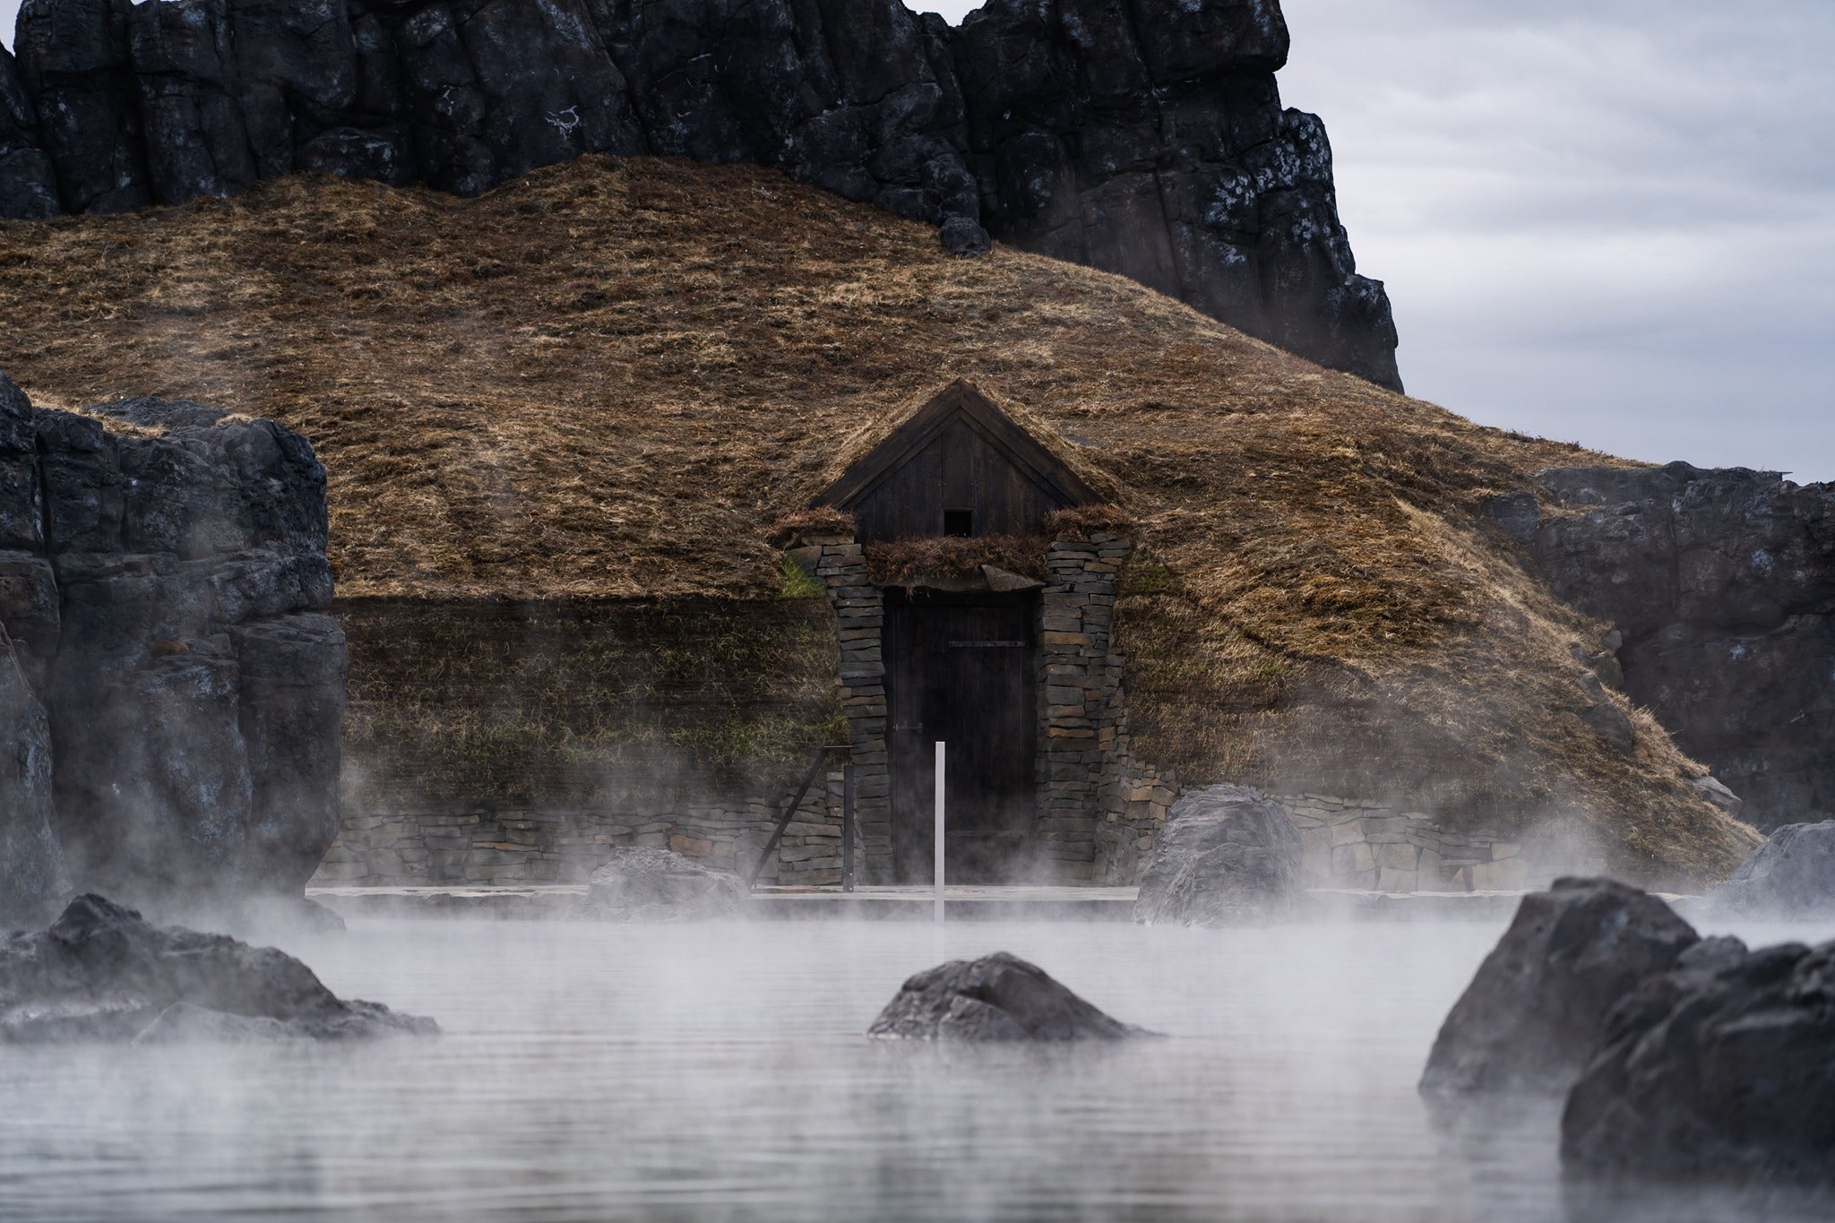
<path fill-rule="evenodd" d="M 1422 1091 L 1567 1091 L 1613 1005 L 1699 941 L 1663 900 L 1609 878 L 1523 897 L 1440 1025 Z"/>

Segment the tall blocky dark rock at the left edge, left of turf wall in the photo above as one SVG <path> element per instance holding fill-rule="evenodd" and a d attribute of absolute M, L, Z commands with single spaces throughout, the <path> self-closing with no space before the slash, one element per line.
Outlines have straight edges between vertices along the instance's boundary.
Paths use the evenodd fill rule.
<path fill-rule="evenodd" d="M 158 400 L 35 411 L 0 376 L 0 627 L 79 887 L 200 904 L 310 878 L 347 669 L 325 537 L 295 433 Z"/>

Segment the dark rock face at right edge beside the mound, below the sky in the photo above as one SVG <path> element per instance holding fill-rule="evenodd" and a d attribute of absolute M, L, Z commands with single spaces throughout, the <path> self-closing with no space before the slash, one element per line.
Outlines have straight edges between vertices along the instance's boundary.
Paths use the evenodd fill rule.
<path fill-rule="evenodd" d="M 1835 484 L 1776 471 L 1562 468 L 1492 517 L 1620 634 L 1622 673 L 1762 829 L 1835 816 Z M 1714 796 L 1710 796 L 1714 798 Z"/>

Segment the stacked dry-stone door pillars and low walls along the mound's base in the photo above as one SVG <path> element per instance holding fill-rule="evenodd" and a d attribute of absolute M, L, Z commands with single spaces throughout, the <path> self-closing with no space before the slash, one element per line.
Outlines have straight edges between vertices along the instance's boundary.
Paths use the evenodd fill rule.
<path fill-rule="evenodd" d="M 1180 779 L 1132 755 L 1114 600 L 1130 545 L 1108 532 L 1059 537 L 1039 592 L 1040 875 L 1061 882 L 1134 884 L 1178 799 Z M 802 532 L 787 557 L 826 589 L 839 640 L 839 688 L 855 768 L 855 871 L 892 873 L 886 754 L 884 598 L 850 537 Z M 839 884 L 842 761 L 806 796 L 762 882 Z M 613 845 L 673 849 L 708 865 L 751 871 L 782 799 L 657 805 L 371 803 L 345 820 L 319 884 L 584 882 Z M 1323 794 L 1279 798 L 1299 829 L 1310 887 L 1499 891 L 1530 878 L 1505 834 L 1451 831 L 1431 816 Z"/>

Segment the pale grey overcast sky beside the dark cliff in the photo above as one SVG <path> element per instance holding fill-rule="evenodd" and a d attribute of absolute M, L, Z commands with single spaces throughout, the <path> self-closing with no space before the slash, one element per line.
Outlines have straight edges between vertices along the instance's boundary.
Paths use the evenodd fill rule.
<path fill-rule="evenodd" d="M 1283 9 L 1281 95 L 1325 117 L 1413 394 L 1835 480 L 1835 2 Z"/>

